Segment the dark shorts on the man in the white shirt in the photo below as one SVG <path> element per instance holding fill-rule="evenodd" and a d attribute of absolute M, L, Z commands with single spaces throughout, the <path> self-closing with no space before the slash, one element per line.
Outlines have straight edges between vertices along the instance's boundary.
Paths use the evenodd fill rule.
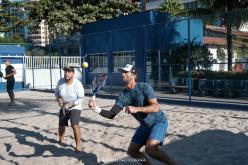
<path fill-rule="evenodd" d="M 63 112 L 59 111 L 59 126 L 68 126 L 68 120 L 70 119 L 71 125 L 79 125 L 81 110 L 72 109 L 67 110 L 66 115 L 63 116 Z"/>

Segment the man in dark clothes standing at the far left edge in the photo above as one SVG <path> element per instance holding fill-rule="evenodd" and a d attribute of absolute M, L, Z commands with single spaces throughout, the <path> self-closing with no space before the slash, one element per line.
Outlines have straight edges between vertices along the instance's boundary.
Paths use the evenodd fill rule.
<path fill-rule="evenodd" d="M 7 93 L 9 95 L 9 98 L 10 98 L 10 103 L 8 104 L 8 106 L 13 106 L 13 105 L 15 105 L 15 94 L 14 94 L 15 77 L 14 77 L 14 75 L 16 74 L 16 70 L 10 64 L 9 59 L 5 59 L 3 61 L 4 61 L 4 64 L 6 66 L 5 76 L 3 78 L 6 79 L 6 81 L 7 81 L 6 89 L 7 89 Z"/>

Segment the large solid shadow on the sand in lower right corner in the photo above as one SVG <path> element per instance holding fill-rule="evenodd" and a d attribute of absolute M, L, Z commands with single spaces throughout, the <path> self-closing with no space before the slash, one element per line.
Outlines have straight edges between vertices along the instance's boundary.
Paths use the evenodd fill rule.
<path fill-rule="evenodd" d="M 248 164 L 248 137 L 229 131 L 207 130 L 163 145 L 180 165 L 245 165 Z M 129 158 L 123 158 L 123 160 Z M 107 165 L 134 164 L 124 161 Z M 159 162 L 154 164 L 160 165 Z"/>

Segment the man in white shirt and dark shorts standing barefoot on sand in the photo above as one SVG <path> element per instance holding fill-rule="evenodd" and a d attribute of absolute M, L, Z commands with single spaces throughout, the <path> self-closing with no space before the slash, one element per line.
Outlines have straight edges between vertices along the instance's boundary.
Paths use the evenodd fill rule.
<path fill-rule="evenodd" d="M 70 119 L 76 142 L 75 150 L 81 151 L 79 120 L 84 97 L 84 87 L 79 80 L 74 78 L 74 68 L 72 66 L 67 66 L 63 70 L 64 78 L 58 81 L 55 91 L 55 96 L 60 106 L 59 144 L 64 143 L 65 126 L 68 126 L 68 120 Z"/>

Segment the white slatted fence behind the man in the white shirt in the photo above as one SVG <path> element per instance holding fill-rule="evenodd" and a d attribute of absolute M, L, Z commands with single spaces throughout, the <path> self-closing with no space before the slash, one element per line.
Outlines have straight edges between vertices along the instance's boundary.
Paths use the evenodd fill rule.
<path fill-rule="evenodd" d="M 25 56 L 25 86 L 30 89 L 53 91 L 60 78 L 63 67 L 74 66 L 76 78 L 83 81 L 81 57 Z"/>

